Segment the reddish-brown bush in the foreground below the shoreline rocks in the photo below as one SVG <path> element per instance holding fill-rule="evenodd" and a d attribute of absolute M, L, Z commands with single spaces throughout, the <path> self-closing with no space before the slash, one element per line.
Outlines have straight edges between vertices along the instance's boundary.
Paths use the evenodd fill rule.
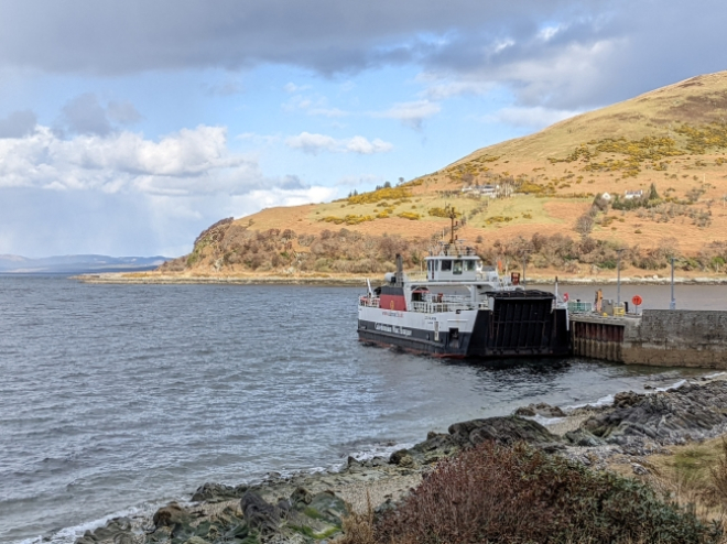
<path fill-rule="evenodd" d="M 376 535 L 386 544 L 701 544 L 719 542 L 721 530 L 636 480 L 486 443 L 442 461 Z"/>

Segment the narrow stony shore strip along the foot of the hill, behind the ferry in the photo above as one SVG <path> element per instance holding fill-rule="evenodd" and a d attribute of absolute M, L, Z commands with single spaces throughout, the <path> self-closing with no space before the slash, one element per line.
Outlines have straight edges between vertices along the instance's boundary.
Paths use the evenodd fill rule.
<path fill-rule="evenodd" d="M 280 276 L 280 275 L 192 275 L 192 274 L 160 274 L 156 272 L 113 272 L 91 273 L 70 276 L 72 280 L 89 284 L 127 284 L 127 285 L 308 285 L 308 286 L 339 286 L 339 287 L 364 287 L 366 276 L 347 275 L 311 275 L 311 276 Z M 369 278 L 370 279 L 370 278 Z M 560 285 L 617 285 L 616 278 L 567 278 L 558 276 Z M 530 285 L 553 285 L 555 276 L 528 278 Z M 671 279 L 663 276 L 620 279 L 621 285 L 670 285 Z M 675 285 L 727 285 L 727 276 L 695 276 L 675 278 Z"/>

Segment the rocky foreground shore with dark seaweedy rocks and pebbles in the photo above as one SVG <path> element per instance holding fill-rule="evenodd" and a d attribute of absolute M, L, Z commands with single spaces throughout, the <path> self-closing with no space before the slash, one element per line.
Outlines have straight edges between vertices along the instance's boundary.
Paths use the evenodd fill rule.
<path fill-rule="evenodd" d="M 535 421 L 545 417 L 547 427 Z M 170 503 L 152 516 L 117 518 L 76 544 L 206 544 L 333 542 L 351 512 L 393 508 L 436 463 L 493 440 L 525 442 L 597 470 L 621 465 L 645 475 L 648 457 L 670 446 L 727 434 L 727 380 L 703 377 L 665 391 L 622 392 L 601 406 L 522 406 L 513 415 L 455 423 L 448 433 L 388 458 L 348 458 L 340 470 L 270 474 L 251 486 L 205 483 L 191 502 Z"/>

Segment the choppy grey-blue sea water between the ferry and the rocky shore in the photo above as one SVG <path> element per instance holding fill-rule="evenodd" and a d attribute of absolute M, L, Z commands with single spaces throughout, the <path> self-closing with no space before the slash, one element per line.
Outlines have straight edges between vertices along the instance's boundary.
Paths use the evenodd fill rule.
<path fill-rule="evenodd" d="M 360 293 L 0 278 L 0 542 L 72 541 L 205 481 L 330 467 L 534 400 L 640 389 L 661 371 L 361 346 Z"/>

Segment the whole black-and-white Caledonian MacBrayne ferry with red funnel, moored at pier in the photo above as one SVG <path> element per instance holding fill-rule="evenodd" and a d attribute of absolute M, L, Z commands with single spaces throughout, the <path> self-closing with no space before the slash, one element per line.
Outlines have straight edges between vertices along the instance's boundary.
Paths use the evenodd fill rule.
<path fill-rule="evenodd" d="M 454 237 L 430 253 L 421 280 L 397 255 L 381 286 L 367 281 L 359 340 L 449 358 L 568 355 L 567 305 L 556 294 L 524 289 L 518 273 L 500 278 Z"/>

